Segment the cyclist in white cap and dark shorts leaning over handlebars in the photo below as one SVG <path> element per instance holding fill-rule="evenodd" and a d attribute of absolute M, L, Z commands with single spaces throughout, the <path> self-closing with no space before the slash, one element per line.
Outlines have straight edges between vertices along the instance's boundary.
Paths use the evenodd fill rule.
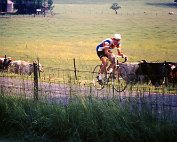
<path fill-rule="evenodd" d="M 122 56 L 122 58 L 125 58 L 128 60 L 127 56 L 122 53 L 121 51 L 121 43 L 120 40 L 122 39 L 120 34 L 114 34 L 112 38 L 107 38 L 103 40 L 97 47 L 96 52 L 98 57 L 100 58 L 102 62 L 102 66 L 100 67 L 100 73 L 97 77 L 99 84 L 102 84 L 102 76 L 104 70 L 106 70 L 107 66 L 107 58 L 110 61 L 110 66 L 107 69 L 107 73 L 111 73 L 113 71 L 113 67 L 115 64 L 115 55 L 112 53 L 112 49 L 117 47 L 117 54 L 119 56 Z"/>

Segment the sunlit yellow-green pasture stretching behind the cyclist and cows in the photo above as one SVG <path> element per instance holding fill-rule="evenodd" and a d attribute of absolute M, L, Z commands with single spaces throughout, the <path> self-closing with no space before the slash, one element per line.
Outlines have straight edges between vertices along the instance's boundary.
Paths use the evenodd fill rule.
<path fill-rule="evenodd" d="M 54 16 L 1 16 L 0 56 L 97 60 L 96 45 L 121 33 L 130 62 L 177 61 L 177 3 L 173 0 L 120 1 L 118 15 L 109 9 L 112 1 L 91 2 L 55 1 Z M 175 14 L 169 15 L 170 11 Z"/>

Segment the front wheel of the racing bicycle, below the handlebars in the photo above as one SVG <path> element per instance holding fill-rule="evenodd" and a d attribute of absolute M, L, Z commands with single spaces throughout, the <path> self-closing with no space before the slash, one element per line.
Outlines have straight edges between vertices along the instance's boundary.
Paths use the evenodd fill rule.
<path fill-rule="evenodd" d="M 113 72 L 113 87 L 117 92 L 123 92 L 127 87 L 127 71 L 124 67 L 118 67 Z"/>

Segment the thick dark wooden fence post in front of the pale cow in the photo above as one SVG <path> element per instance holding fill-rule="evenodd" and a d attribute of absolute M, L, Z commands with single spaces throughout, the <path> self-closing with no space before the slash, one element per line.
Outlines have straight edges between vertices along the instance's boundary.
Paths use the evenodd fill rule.
<path fill-rule="evenodd" d="M 34 68 L 34 100 L 38 100 L 38 64 L 33 62 Z"/>

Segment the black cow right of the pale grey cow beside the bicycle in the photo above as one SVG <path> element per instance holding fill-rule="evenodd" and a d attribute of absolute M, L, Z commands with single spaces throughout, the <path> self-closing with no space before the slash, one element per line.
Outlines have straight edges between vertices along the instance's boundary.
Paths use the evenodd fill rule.
<path fill-rule="evenodd" d="M 147 76 L 152 85 L 159 86 L 165 83 L 166 66 L 165 63 L 148 63 L 142 60 L 136 74 Z"/>

